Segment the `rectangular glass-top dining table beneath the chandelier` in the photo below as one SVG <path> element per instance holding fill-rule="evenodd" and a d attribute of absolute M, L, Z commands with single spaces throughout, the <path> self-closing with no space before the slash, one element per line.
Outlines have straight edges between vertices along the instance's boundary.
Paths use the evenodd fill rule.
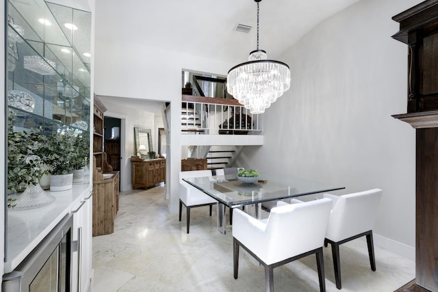
<path fill-rule="evenodd" d="M 226 207 L 229 207 L 232 211 L 236 207 L 254 205 L 256 217 L 259 217 L 261 215 L 261 205 L 266 202 L 345 189 L 345 187 L 330 183 L 298 178 L 291 178 L 289 180 L 290 185 L 282 185 L 266 180 L 255 181 L 255 183 L 242 183 L 235 174 L 183 178 L 183 181 L 218 201 L 217 224 L 218 230 L 222 234 L 226 233 L 224 221 Z"/>

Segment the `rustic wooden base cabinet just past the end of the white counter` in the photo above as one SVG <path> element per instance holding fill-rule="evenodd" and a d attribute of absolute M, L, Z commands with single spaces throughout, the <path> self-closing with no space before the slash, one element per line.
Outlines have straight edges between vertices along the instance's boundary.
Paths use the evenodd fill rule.
<path fill-rule="evenodd" d="M 110 178 L 93 181 L 93 236 L 114 233 L 120 172 L 112 174 Z"/>

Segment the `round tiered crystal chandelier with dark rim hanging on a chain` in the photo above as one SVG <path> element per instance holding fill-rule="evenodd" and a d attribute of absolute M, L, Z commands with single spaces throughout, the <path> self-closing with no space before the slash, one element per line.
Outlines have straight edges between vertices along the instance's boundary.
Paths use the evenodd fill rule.
<path fill-rule="evenodd" d="M 259 2 L 257 2 L 257 50 L 249 54 L 248 62 L 228 71 L 227 90 L 250 110 L 262 114 L 290 87 L 289 66 L 267 59 L 266 51 L 259 49 Z"/>

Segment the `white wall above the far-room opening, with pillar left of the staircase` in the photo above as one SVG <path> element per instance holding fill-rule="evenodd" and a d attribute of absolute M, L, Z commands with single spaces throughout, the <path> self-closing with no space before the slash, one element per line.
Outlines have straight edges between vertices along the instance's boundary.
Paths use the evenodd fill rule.
<path fill-rule="evenodd" d="M 225 75 L 231 63 L 185 55 L 133 43 L 99 39 L 105 29 L 104 15 L 96 3 L 95 91 L 98 96 L 123 96 L 153 101 L 170 101 L 170 139 L 166 159 L 166 192 L 170 196 L 169 210 L 178 211 L 181 170 L 181 71 L 183 68 Z M 146 37 L 146 36 L 144 36 Z"/>

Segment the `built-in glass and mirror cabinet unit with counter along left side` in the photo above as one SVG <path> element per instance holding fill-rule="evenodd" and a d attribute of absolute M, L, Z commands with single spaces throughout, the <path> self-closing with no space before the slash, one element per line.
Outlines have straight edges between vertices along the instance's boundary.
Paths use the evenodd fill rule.
<path fill-rule="evenodd" d="M 84 291 L 90 288 L 92 249 L 92 15 L 44 0 L 10 0 L 5 14 L 4 127 L 8 162 L 4 165 L 3 291 L 29 291 L 39 285 L 35 281 L 44 275 L 21 275 L 18 278 L 29 282 L 19 282 L 16 271 L 34 265 L 34 259 L 41 254 L 48 254 L 47 260 L 52 261 L 56 249 L 44 250 L 47 238 L 54 238 L 57 242 L 52 245 L 61 250 L 68 246 L 63 250 L 68 252 L 60 253 L 57 257 L 62 261 L 51 265 L 54 273 L 52 270 L 48 275 L 55 277 L 48 277 L 51 282 L 42 287 L 51 288 L 44 291 Z M 58 152 L 61 155 L 54 159 L 53 154 Z M 73 167 L 79 155 L 85 158 L 77 159 L 80 165 Z M 68 160 L 64 163 L 70 164 L 64 168 L 53 166 L 49 157 L 52 162 Z M 50 181 L 57 168 L 60 171 L 56 174 L 66 175 L 81 170 L 79 179 L 71 187 L 55 191 Z M 43 183 L 44 179 L 47 181 Z M 55 236 L 59 232 L 55 227 L 65 220 L 73 221 L 68 229 L 70 242 Z M 35 269 L 44 271 L 42 267 Z"/>

